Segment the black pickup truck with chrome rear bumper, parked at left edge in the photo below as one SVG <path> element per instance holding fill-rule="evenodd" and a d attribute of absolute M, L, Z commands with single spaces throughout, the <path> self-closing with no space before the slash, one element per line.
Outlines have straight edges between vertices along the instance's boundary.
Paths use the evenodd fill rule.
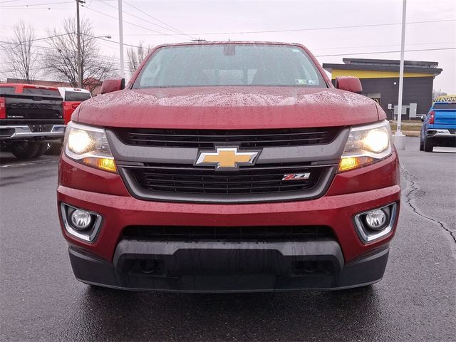
<path fill-rule="evenodd" d="M 58 88 L 0 84 L 0 148 L 19 159 L 39 157 L 65 134 Z"/>

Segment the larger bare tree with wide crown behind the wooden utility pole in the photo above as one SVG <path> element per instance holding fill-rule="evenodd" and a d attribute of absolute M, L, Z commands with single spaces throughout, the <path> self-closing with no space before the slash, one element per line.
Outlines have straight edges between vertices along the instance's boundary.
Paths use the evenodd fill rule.
<path fill-rule="evenodd" d="M 54 28 L 49 32 L 51 48 L 43 54 L 43 68 L 58 79 L 66 79 L 71 86 L 78 86 L 78 43 L 76 20 L 68 18 L 63 22 L 62 31 Z M 98 81 L 116 73 L 112 57 L 100 55 L 100 47 L 93 36 L 90 21 L 81 21 L 81 65 L 83 86 L 93 91 Z M 95 81 L 94 81 L 95 80 Z"/>

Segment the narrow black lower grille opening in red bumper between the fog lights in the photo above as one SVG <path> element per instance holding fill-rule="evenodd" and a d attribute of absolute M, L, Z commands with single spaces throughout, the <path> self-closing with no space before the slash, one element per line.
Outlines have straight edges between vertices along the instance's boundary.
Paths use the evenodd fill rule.
<path fill-rule="evenodd" d="M 252 226 L 252 227 L 190 227 L 190 226 L 129 226 L 123 239 L 148 241 L 309 241 L 335 239 L 327 226 Z"/>

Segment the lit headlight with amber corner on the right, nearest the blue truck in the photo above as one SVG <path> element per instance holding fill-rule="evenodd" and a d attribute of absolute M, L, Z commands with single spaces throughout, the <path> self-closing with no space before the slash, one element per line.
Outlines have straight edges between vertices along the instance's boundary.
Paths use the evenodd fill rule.
<path fill-rule="evenodd" d="M 352 127 L 339 163 L 339 172 L 378 162 L 391 154 L 391 129 L 387 120 Z"/>

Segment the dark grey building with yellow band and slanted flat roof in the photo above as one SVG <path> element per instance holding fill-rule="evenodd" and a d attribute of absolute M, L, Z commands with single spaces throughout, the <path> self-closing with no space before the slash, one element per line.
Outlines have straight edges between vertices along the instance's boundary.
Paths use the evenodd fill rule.
<path fill-rule="evenodd" d="M 398 113 L 399 64 L 389 59 L 343 58 L 343 64 L 323 63 L 338 76 L 354 76 L 361 80 L 363 95 L 372 98 L 385 110 L 388 119 Z M 432 86 L 442 69 L 437 62 L 404 61 L 403 120 L 417 120 L 426 115 L 432 105 Z"/>

